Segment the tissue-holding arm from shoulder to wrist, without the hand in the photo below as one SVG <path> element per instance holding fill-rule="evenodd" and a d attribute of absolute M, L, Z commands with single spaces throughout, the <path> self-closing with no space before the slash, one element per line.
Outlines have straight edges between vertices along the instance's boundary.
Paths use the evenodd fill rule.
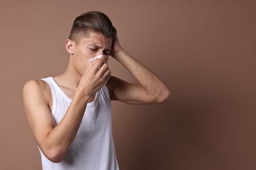
<path fill-rule="evenodd" d="M 64 118 L 55 125 L 49 109 L 49 99 L 45 97 L 47 85 L 43 80 L 31 80 L 24 86 L 24 110 L 32 129 L 33 137 L 43 154 L 53 162 L 62 160 L 81 124 L 85 103 L 77 100 L 70 104 Z M 48 87 L 49 88 L 49 87 Z"/>

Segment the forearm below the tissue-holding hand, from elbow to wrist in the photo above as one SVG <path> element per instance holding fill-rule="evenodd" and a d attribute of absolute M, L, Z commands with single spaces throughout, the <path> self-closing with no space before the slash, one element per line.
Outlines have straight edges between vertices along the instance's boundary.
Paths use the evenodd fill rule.
<path fill-rule="evenodd" d="M 60 123 L 45 138 L 43 151 L 51 161 L 61 161 L 74 141 L 83 119 L 87 101 L 88 98 L 82 100 L 75 95 Z"/>

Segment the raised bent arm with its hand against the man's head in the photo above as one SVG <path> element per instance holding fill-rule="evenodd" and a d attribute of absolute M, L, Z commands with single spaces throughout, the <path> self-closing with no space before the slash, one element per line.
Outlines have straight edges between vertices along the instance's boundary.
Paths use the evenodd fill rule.
<path fill-rule="evenodd" d="M 112 76 L 107 84 L 112 100 L 130 104 L 147 104 L 161 103 L 169 97 L 171 92 L 163 81 L 121 48 L 117 38 L 114 40 L 111 56 L 130 71 L 139 82 L 139 84 L 130 84 Z"/>

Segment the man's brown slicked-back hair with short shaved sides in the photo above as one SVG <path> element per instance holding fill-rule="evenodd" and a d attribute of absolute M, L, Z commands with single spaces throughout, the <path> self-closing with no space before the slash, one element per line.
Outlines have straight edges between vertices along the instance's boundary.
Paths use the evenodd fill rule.
<path fill-rule="evenodd" d="M 116 37 L 116 28 L 112 25 L 110 18 L 102 12 L 90 11 L 75 18 L 69 39 L 78 44 L 80 39 L 86 37 L 90 31 L 101 33 L 107 38 Z"/>

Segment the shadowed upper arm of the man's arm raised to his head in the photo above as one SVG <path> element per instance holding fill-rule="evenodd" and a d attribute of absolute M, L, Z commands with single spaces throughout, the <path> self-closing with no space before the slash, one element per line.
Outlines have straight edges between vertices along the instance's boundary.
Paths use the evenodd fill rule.
<path fill-rule="evenodd" d="M 107 86 L 110 90 L 112 100 L 128 104 L 152 103 L 152 97 L 145 92 L 140 84 L 131 84 L 120 78 L 111 76 Z"/>

